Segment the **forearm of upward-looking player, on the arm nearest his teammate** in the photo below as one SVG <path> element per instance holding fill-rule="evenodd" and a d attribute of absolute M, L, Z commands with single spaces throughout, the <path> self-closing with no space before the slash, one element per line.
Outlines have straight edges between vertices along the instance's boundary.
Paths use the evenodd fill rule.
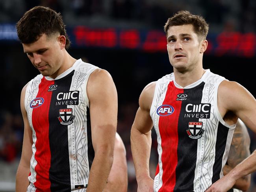
<path fill-rule="evenodd" d="M 131 148 L 137 181 L 145 177 L 150 177 L 149 158 L 151 148 L 151 131 L 144 134 L 132 126 Z"/>

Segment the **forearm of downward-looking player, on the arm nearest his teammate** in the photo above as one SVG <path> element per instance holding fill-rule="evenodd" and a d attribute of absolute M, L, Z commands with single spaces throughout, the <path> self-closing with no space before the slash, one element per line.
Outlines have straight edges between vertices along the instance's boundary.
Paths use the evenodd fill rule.
<path fill-rule="evenodd" d="M 113 163 L 113 151 L 99 150 L 91 166 L 87 192 L 102 192 Z"/>

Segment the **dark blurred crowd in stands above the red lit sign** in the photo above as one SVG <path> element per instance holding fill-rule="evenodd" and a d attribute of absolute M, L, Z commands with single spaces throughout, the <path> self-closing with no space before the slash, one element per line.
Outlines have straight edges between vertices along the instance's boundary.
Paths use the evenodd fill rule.
<path fill-rule="evenodd" d="M 0 0 L 0 23 L 16 23 L 37 5 L 61 12 L 66 25 L 163 28 L 179 10 L 202 15 L 211 31 L 255 32 L 255 0 Z"/>

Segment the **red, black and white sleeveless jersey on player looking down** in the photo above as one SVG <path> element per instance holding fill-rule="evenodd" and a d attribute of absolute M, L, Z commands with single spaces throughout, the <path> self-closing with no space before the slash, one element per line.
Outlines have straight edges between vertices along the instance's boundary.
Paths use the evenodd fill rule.
<path fill-rule="evenodd" d="M 86 86 L 96 68 L 79 59 L 56 79 L 40 74 L 28 83 L 24 104 L 33 137 L 28 192 L 86 191 L 94 159 Z"/>

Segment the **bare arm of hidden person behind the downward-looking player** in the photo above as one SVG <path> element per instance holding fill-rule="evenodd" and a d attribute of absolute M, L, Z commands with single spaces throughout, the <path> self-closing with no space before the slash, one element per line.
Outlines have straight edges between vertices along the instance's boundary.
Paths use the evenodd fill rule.
<path fill-rule="evenodd" d="M 108 176 L 104 192 L 127 192 L 128 177 L 126 151 L 121 137 L 116 133 L 114 161 Z"/>

